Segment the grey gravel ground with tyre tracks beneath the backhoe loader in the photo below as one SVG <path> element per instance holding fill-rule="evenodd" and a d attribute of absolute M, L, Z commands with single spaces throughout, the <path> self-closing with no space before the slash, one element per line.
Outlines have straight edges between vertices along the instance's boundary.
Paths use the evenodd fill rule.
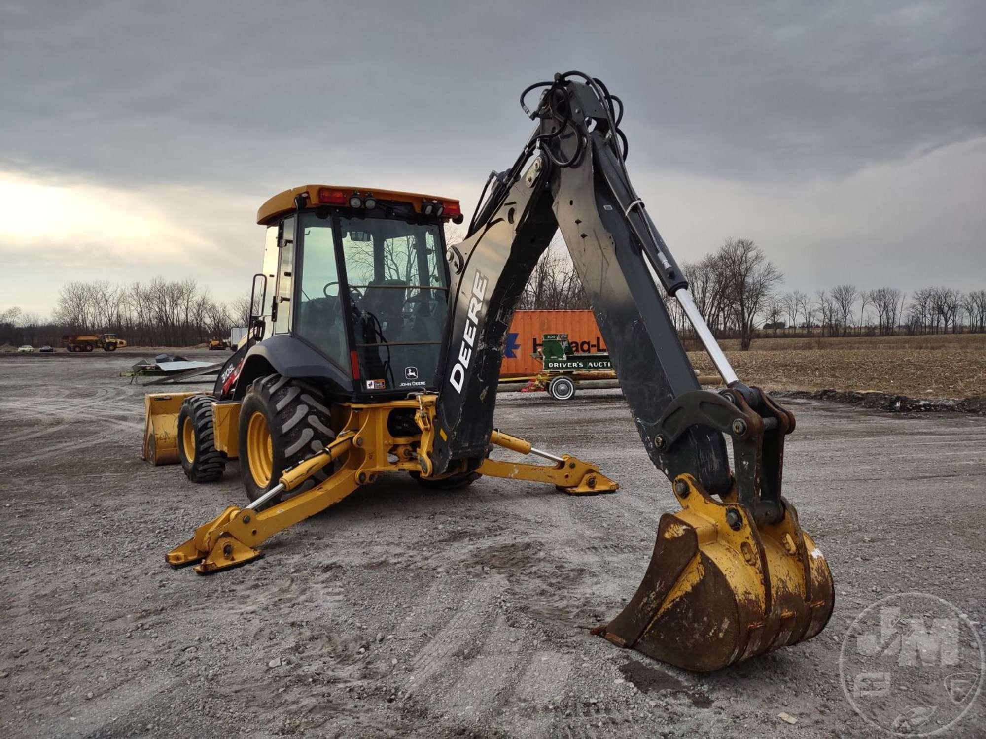
<path fill-rule="evenodd" d="M 786 494 L 835 614 L 818 638 L 695 675 L 589 635 L 673 505 L 618 391 L 510 393 L 497 412 L 599 462 L 616 495 L 390 477 L 199 577 L 164 553 L 245 500 L 239 468 L 193 486 L 140 461 L 144 390 L 117 376 L 132 361 L 0 358 L 0 735 L 880 735 L 839 686 L 857 614 L 922 590 L 986 621 L 982 418 L 790 401 Z M 950 735 L 982 736 L 984 718 L 980 698 Z"/>

